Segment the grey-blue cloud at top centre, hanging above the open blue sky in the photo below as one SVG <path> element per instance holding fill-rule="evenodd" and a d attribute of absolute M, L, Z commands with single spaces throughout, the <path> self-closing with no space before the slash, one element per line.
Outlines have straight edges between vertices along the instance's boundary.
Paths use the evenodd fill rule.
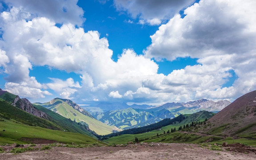
<path fill-rule="evenodd" d="M 188 7 L 194 0 L 114 0 L 118 11 L 128 12 L 132 18 L 140 18 L 140 24 L 161 24 L 181 9 Z"/>

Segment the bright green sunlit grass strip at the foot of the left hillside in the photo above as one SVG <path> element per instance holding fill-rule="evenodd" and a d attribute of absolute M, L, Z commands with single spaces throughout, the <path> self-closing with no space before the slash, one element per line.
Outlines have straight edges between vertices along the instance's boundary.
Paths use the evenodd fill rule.
<path fill-rule="evenodd" d="M 93 144 L 101 143 L 98 140 L 79 133 L 63 132 L 58 130 L 51 130 L 40 127 L 28 126 L 25 124 L 18 124 L 12 120 L 0 122 L 0 128 L 4 128 L 3 132 L 0 130 L 0 142 L 3 144 L 24 144 L 29 143 L 22 138 L 40 138 L 47 140 L 55 140 L 60 143 L 76 143 L 76 144 Z M 17 132 L 16 132 L 17 131 Z"/>

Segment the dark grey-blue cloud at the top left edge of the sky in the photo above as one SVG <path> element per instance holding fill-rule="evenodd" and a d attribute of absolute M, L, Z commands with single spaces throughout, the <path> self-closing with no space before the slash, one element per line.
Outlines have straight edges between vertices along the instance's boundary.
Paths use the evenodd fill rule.
<path fill-rule="evenodd" d="M 5 0 L 10 7 L 19 6 L 24 11 L 47 17 L 56 23 L 72 23 L 78 26 L 83 24 L 84 11 L 77 4 L 78 0 Z"/>

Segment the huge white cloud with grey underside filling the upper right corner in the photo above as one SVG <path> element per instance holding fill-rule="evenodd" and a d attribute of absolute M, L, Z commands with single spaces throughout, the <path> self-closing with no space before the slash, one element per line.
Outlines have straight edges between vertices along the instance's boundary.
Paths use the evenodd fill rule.
<path fill-rule="evenodd" d="M 252 6 L 256 6 L 252 0 L 201 0 L 184 11 L 184 19 L 176 15 L 161 25 L 144 52 L 149 57 L 175 60 L 255 50 L 256 21 L 249 16 L 256 14 Z"/>

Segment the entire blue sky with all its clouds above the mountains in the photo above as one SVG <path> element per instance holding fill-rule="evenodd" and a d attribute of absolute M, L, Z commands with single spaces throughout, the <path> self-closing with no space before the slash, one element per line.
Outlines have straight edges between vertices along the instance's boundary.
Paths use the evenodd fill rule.
<path fill-rule="evenodd" d="M 255 0 L 0 0 L 0 88 L 31 102 L 233 101 L 256 90 Z"/>

